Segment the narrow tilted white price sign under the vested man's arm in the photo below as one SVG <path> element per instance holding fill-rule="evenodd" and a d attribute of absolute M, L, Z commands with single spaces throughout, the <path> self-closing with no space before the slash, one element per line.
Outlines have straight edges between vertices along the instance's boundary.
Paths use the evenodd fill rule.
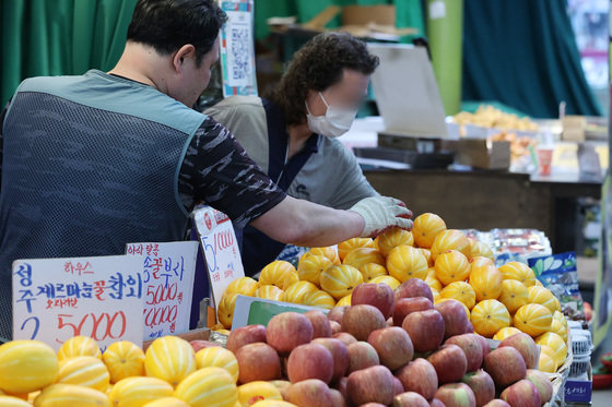
<path fill-rule="evenodd" d="M 236 235 L 232 220 L 223 212 L 200 206 L 192 216 L 207 261 L 214 303 L 217 304 L 229 283 L 245 276 Z"/>

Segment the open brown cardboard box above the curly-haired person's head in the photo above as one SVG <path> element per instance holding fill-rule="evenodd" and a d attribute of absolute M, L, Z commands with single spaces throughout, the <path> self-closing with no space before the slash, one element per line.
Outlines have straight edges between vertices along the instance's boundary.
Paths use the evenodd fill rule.
<path fill-rule="evenodd" d="M 326 25 L 338 14 L 341 15 L 342 25 L 328 29 Z M 310 21 L 303 24 L 283 24 L 283 20 L 270 19 L 270 29 L 276 33 L 310 32 L 313 34 L 326 31 L 348 32 L 355 37 L 374 38 L 398 41 L 401 36 L 419 34 L 416 28 L 396 28 L 396 7 L 387 4 L 377 5 L 348 5 L 344 8 L 330 5 Z"/>

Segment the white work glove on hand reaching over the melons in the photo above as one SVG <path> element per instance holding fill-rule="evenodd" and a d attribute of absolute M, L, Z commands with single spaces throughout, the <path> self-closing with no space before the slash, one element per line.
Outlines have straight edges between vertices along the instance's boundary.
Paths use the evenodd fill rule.
<path fill-rule="evenodd" d="M 389 196 L 372 196 L 357 202 L 349 211 L 360 214 L 365 222 L 362 232 L 363 238 L 373 238 L 385 229 L 397 226 L 402 229 L 412 229 L 412 212 L 405 204 Z"/>

